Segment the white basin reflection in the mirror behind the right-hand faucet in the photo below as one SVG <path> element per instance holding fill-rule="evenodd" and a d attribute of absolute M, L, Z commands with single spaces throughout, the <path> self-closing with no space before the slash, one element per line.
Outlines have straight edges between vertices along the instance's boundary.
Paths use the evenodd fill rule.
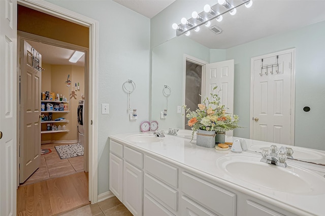
<path fill-rule="evenodd" d="M 278 144 L 277 146 L 280 148 L 281 144 Z M 268 144 L 253 144 L 248 148 L 248 150 L 262 152 L 263 149 L 269 150 L 269 147 L 270 145 Z M 325 164 L 325 155 L 321 152 L 295 146 L 288 147 L 291 147 L 294 150 L 294 159 Z"/>

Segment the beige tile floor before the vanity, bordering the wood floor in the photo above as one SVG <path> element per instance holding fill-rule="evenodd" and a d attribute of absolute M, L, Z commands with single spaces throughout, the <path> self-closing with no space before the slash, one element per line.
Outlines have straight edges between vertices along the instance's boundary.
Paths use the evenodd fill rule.
<path fill-rule="evenodd" d="M 112 197 L 95 204 L 88 204 L 75 210 L 58 214 L 62 216 L 133 216 L 116 198 Z"/>

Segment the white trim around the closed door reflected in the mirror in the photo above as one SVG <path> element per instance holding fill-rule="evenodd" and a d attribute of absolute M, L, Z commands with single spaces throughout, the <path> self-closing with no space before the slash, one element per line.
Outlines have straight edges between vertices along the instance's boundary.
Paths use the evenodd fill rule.
<path fill-rule="evenodd" d="M 290 145 L 295 145 L 295 96 L 296 96 L 296 48 L 273 52 L 265 55 L 252 57 L 250 60 L 250 115 L 249 115 L 249 138 L 253 138 L 253 106 L 254 106 L 254 61 L 260 58 L 268 58 L 274 55 L 291 53 L 291 96 L 290 96 Z"/>

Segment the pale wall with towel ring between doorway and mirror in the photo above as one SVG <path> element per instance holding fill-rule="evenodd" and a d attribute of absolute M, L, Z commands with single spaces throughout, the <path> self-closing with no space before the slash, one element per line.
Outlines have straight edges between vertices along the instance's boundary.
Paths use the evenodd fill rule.
<path fill-rule="evenodd" d="M 113 1 L 48 1 L 99 21 L 98 70 L 98 193 L 109 191 L 109 140 L 118 133 L 138 132 L 149 119 L 150 19 Z M 122 84 L 132 79 L 131 95 L 138 120 L 129 121 Z M 102 115 L 102 103 L 110 114 Z"/>

